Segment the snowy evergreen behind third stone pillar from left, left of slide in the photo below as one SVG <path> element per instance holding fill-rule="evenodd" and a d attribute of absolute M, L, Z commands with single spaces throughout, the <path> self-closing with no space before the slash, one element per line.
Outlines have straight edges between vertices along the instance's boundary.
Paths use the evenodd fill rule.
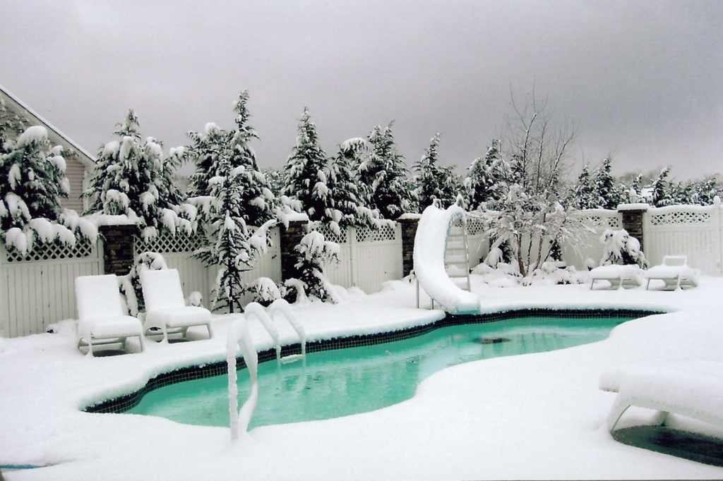
<path fill-rule="evenodd" d="M 404 157 L 394 143 L 392 123 L 383 130 L 376 126 L 369 134 L 372 153 L 359 165 L 359 181 L 369 194 L 369 207 L 377 209 L 382 218 L 395 220 L 406 212 L 414 212 L 416 199 Z"/>

